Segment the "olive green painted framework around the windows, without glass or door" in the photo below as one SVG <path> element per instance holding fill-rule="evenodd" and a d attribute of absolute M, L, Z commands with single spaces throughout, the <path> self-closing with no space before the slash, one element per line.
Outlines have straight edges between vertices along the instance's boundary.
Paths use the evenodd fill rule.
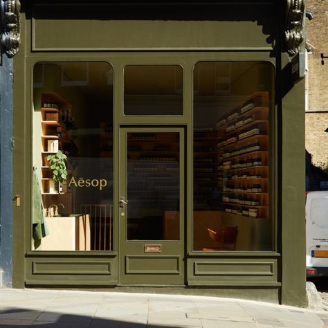
<path fill-rule="evenodd" d="M 247 279 L 238 281 L 229 277 L 221 286 L 243 290 L 243 297 L 264 299 L 267 293 L 271 300 L 284 304 L 306 305 L 305 298 L 305 255 L 304 255 L 304 83 L 292 85 L 288 82 L 290 57 L 282 53 L 282 22 L 284 13 L 280 1 L 258 1 L 247 3 L 231 1 L 229 3 L 212 3 L 205 6 L 188 6 L 187 3 L 167 6 L 149 5 L 145 10 L 138 10 L 108 3 L 89 10 L 87 3 L 76 6 L 76 10 L 67 10 L 69 3 L 47 1 L 35 7 L 28 1 L 22 1 L 22 45 L 19 55 L 15 57 L 14 80 L 14 193 L 21 194 L 21 207 L 14 208 L 14 273 L 13 285 L 35 286 L 108 286 L 117 283 L 118 262 L 116 252 L 107 255 L 100 253 L 33 253 L 30 252 L 30 176 L 31 176 L 31 139 L 32 136 L 32 68 L 36 62 L 97 60 L 113 62 L 114 67 L 114 117 L 116 133 L 118 124 L 129 125 L 145 122 L 153 124 L 158 120 L 129 118 L 122 116 L 122 68 L 125 64 L 165 64 L 181 63 L 184 72 L 184 116 L 167 117 L 161 124 L 185 125 L 186 140 L 192 140 L 192 66 L 200 60 L 270 60 L 276 66 L 276 206 L 277 251 L 273 253 L 227 253 L 203 256 L 200 253 L 188 253 L 188 272 L 192 274 L 193 263 L 212 261 L 217 264 L 231 259 L 235 262 L 273 263 L 271 280 L 265 283 Z M 256 5 L 256 6 L 255 6 Z M 162 7 L 161 7 L 162 6 Z M 161 12 L 161 9 L 163 12 Z M 24 15 L 26 12 L 26 15 Z M 112 19 L 109 20 L 109 12 Z M 161 12 L 159 14 L 158 12 Z M 152 16 L 154 15 L 154 16 Z M 201 19 L 197 17 L 201 15 Z M 35 18 L 33 21 L 31 18 Z M 149 19 L 152 18 L 152 19 Z M 274 17 L 274 19 L 273 19 Z M 277 18 L 278 17 L 278 18 Z M 113 19 L 115 18 L 115 19 Z M 198 19 L 197 19 L 198 18 Z M 89 19 L 92 19 L 88 21 Z M 103 31 L 106 31 L 104 33 Z M 150 31 L 150 33 L 149 33 Z M 205 51 L 206 50 L 206 51 Z M 282 55 L 281 55 L 282 53 Z M 282 57 L 282 59 L 281 59 Z M 281 64 L 282 63 L 282 64 Z M 117 71 L 116 71 L 117 70 Z M 117 72 L 117 73 L 116 73 Z M 188 82 L 189 81 L 189 82 Z M 118 147 L 118 139 L 114 139 Z M 186 170 L 191 172 L 192 144 L 186 144 Z M 118 156 L 118 149 L 115 156 Z M 117 158 L 117 157 L 116 157 Z M 295 165 L 295 163 L 300 163 Z M 116 161 L 118 170 L 118 161 Z M 191 174 L 191 173 L 189 173 Z M 191 177 L 187 177 L 191 181 Z M 23 183 L 22 183 L 23 181 Z M 187 185 L 186 246 L 192 250 L 191 203 L 192 190 Z M 189 200 L 188 200 L 189 199 Z M 114 202 L 118 201 L 118 186 L 114 190 Z M 114 210 L 118 215 L 118 210 Z M 116 218 L 117 220 L 117 218 Z M 116 237 L 118 230 L 116 230 Z M 118 244 L 116 239 L 116 248 Z M 281 255 L 280 255 L 281 254 Z M 195 260 L 194 260 L 195 259 Z M 199 260 L 198 260 L 199 259 Z M 86 263 L 111 262 L 113 275 L 102 273 L 93 275 L 66 274 L 66 262 L 79 263 L 84 269 Z M 48 264 L 47 264 L 48 263 Z M 62 273 L 53 274 L 55 264 L 62 263 Z M 42 275 L 31 270 L 36 264 L 49 272 Z M 47 266 L 48 265 L 48 266 Z M 197 264 L 198 265 L 198 264 Z M 260 264 L 259 264 L 260 265 Z M 76 266 L 78 271 L 79 266 Z M 48 269 L 47 269 L 48 268 Z M 267 272 L 268 264 L 261 266 Z M 242 267 L 238 270 L 242 271 Z M 91 270 L 92 271 L 92 270 Z M 41 272 L 41 273 L 40 273 Z M 78 273 L 78 272 L 77 272 Z M 209 280 L 201 282 L 208 284 Z M 210 292 L 220 295 L 221 289 L 210 284 Z M 281 285 L 281 286 L 280 286 Z M 246 288 L 245 288 L 246 287 Z M 246 292 L 247 291 L 247 292 Z M 196 291 L 195 291 L 196 292 Z M 266 298 L 266 299 L 268 299 Z"/>

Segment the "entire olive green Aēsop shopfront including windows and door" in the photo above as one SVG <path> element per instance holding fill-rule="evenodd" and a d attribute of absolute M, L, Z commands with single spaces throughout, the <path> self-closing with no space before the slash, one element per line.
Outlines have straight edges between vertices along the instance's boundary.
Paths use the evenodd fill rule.
<path fill-rule="evenodd" d="M 21 1 L 13 286 L 306 304 L 294 2 Z"/>

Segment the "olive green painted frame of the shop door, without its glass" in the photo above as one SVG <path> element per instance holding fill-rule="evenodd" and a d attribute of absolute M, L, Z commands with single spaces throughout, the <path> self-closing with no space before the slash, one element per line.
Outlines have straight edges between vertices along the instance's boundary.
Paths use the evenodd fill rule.
<path fill-rule="evenodd" d="M 160 122 L 161 119 L 158 119 Z M 147 124 L 147 119 L 145 120 Z M 128 199 L 128 163 L 127 163 L 127 134 L 179 134 L 179 224 L 176 229 L 179 230 L 179 236 L 163 237 L 159 240 L 131 240 L 127 237 L 127 221 L 129 220 L 128 208 L 133 206 L 142 206 L 143 211 L 148 206 L 152 206 L 150 200 L 145 203 L 132 203 Z M 119 284 L 180 284 L 185 283 L 185 130 L 182 127 L 120 127 L 120 165 L 119 165 L 119 198 L 126 200 L 119 206 L 118 227 L 119 227 Z M 157 141 L 158 142 L 158 141 Z M 160 140 L 161 142 L 161 140 Z M 174 141 L 175 142 L 175 141 Z M 156 145 L 156 141 L 152 144 Z M 140 162 L 139 162 L 140 163 Z M 156 163 L 154 161 L 153 163 Z M 167 165 L 165 162 L 157 162 L 155 165 L 161 165 L 160 168 Z M 165 167 L 166 169 L 166 167 Z M 130 168 L 130 170 L 133 170 Z M 147 179 L 143 176 L 143 179 Z M 130 181 L 129 181 L 130 182 Z M 133 182 L 133 181 L 131 181 Z M 140 192 L 143 192 L 141 190 Z M 131 209 L 131 212 L 133 208 Z M 163 212 L 163 215 L 165 212 Z M 150 217 L 154 219 L 154 217 Z M 163 227 L 164 227 L 163 216 Z M 169 218 L 170 219 L 170 218 Z M 172 219 L 171 219 L 172 220 Z M 147 228 L 145 226 L 144 228 Z M 167 232 L 168 233 L 168 232 Z M 165 239 L 165 240 L 164 240 Z"/>

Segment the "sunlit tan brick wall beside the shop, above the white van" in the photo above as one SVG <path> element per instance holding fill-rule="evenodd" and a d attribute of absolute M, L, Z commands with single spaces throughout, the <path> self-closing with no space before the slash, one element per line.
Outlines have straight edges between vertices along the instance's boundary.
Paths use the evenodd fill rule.
<path fill-rule="evenodd" d="M 328 0 L 307 0 L 314 19 L 306 19 L 306 39 L 313 46 L 307 73 L 308 111 L 305 114 L 305 147 L 314 165 L 328 164 L 328 58 L 321 64 L 320 54 L 328 56 Z M 309 113 L 309 111 L 327 111 Z"/>

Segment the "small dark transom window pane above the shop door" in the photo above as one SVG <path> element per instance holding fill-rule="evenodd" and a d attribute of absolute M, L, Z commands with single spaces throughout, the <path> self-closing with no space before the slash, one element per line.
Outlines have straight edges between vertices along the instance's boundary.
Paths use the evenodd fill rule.
<path fill-rule="evenodd" d="M 126 66 L 125 115 L 182 115 L 181 66 Z"/>

